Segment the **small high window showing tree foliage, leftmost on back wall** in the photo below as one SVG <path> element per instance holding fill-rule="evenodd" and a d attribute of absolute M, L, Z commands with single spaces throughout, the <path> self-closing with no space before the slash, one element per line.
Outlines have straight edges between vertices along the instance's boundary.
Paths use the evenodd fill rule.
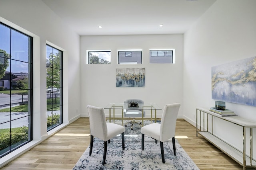
<path fill-rule="evenodd" d="M 87 64 L 111 64 L 111 51 L 110 50 L 86 50 Z"/>

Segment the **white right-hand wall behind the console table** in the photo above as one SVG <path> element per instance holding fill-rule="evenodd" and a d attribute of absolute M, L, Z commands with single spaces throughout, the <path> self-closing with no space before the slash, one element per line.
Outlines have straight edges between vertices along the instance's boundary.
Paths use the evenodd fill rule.
<path fill-rule="evenodd" d="M 195 124 L 196 107 L 215 106 L 212 66 L 256 56 L 255 7 L 255 0 L 217 0 L 184 34 L 184 115 L 190 122 Z M 226 102 L 226 108 L 256 121 L 256 107 Z M 240 146 L 240 128 L 222 121 L 217 125 L 219 137 Z"/>

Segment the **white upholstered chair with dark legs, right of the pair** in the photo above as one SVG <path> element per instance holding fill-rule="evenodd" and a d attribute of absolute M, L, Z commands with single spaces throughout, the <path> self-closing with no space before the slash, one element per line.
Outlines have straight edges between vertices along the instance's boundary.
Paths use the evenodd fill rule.
<path fill-rule="evenodd" d="M 180 109 L 180 104 L 167 104 L 164 106 L 162 113 L 161 123 L 152 123 L 146 125 L 140 129 L 142 134 L 142 143 L 141 149 L 144 150 L 144 135 L 147 135 L 153 138 L 156 143 L 160 141 L 160 148 L 162 154 L 162 162 L 165 163 L 164 159 L 164 142 L 172 138 L 173 152 L 176 156 L 176 147 L 175 147 L 175 127 L 176 119 Z"/>

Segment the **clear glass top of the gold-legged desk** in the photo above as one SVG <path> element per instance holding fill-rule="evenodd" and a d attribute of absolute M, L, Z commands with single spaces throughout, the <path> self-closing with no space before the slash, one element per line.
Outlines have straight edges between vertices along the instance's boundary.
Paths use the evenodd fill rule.
<path fill-rule="evenodd" d="M 104 109 L 156 109 L 161 110 L 161 107 L 159 107 L 157 104 L 139 104 L 139 107 L 128 107 L 128 103 L 110 103 L 107 106 L 104 107 Z"/>

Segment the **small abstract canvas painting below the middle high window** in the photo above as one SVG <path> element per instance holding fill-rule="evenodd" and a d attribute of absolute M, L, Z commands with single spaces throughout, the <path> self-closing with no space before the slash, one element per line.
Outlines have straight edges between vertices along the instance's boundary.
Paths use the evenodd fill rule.
<path fill-rule="evenodd" d="M 116 87 L 144 87 L 145 68 L 116 68 Z"/>

